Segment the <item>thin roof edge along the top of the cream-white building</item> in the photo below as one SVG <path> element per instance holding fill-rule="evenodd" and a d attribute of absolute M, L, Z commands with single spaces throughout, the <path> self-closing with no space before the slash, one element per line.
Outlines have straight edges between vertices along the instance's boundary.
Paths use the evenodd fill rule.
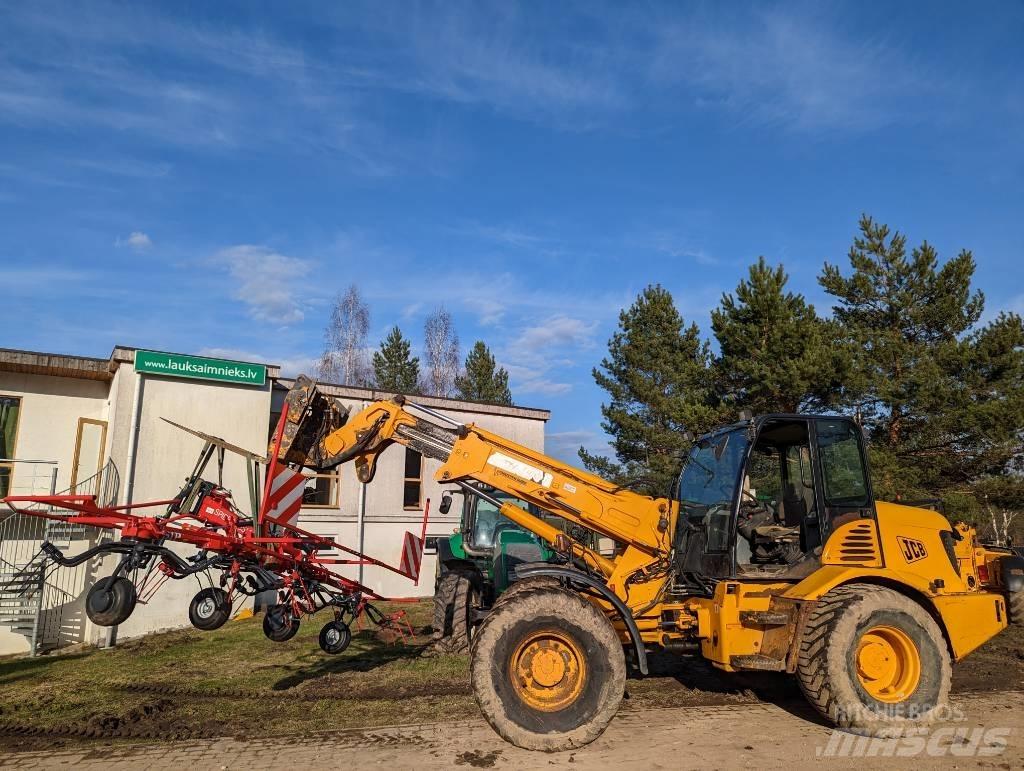
<path fill-rule="evenodd" d="M 0 348 L 0 372 L 25 373 L 29 375 L 50 375 L 58 378 L 78 378 L 80 380 L 100 380 L 110 382 L 121 365 L 132 365 L 135 361 L 137 348 L 127 345 L 117 345 L 108 358 L 92 356 L 74 356 L 67 353 L 42 353 L 39 351 Z M 173 351 L 159 351 L 173 353 Z M 211 358 L 217 358 L 211 356 Z M 242 363 L 259 363 L 266 367 L 266 376 L 275 387 L 290 388 L 295 382 L 292 378 L 281 376 L 281 367 L 266 365 L 262 361 L 242 361 Z M 390 398 L 394 393 L 376 388 L 359 388 L 357 386 L 338 385 L 334 383 L 317 383 L 317 388 L 331 396 L 376 401 Z M 485 415 L 504 415 L 527 420 L 543 420 L 551 418 L 549 410 L 505 404 L 485 404 L 464 399 L 441 398 L 438 396 L 416 396 L 416 401 L 439 410 L 456 410 L 463 413 L 481 413 Z"/>

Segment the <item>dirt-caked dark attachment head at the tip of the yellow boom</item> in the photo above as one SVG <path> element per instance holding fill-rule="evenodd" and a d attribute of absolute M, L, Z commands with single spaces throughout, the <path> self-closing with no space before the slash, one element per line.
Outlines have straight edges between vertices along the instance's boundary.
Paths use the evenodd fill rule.
<path fill-rule="evenodd" d="M 325 396 L 311 378 L 300 375 L 285 397 L 285 431 L 276 448 L 278 461 L 319 468 L 324 437 L 347 420 L 344 404 Z M 270 454 L 273 452 L 271 444 Z"/>

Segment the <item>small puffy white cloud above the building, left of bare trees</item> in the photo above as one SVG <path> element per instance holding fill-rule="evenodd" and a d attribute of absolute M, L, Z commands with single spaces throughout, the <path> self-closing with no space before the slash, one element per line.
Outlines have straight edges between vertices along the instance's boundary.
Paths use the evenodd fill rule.
<path fill-rule="evenodd" d="M 232 297 L 248 306 L 253 318 L 287 327 L 305 317 L 306 303 L 297 286 L 312 269 L 312 261 L 242 244 L 220 250 L 211 262 L 227 270 L 236 284 Z"/>

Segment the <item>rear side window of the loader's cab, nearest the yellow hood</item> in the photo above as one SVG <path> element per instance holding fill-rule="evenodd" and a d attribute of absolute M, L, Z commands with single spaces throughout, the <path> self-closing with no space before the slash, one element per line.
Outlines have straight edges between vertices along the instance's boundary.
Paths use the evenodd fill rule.
<path fill-rule="evenodd" d="M 823 544 L 844 522 L 873 518 L 874 497 L 863 434 L 857 424 L 848 418 L 817 418 L 812 425 L 815 479 L 824 507 L 819 520 Z"/>

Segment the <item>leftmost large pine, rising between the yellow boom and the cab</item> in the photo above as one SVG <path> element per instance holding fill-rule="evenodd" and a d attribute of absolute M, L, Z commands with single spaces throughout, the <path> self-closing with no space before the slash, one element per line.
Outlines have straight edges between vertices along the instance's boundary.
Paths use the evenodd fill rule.
<path fill-rule="evenodd" d="M 720 422 L 711 347 L 696 325 L 684 326 L 672 295 L 647 287 L 618 315 L 618 331 L 594 380 L 608 392 L 602 428 L 611 437 L 615 461 L 583 447 L 591 471 L 621 482 L 636 480 L 651 495 L 668 495 L 689 442 Z"/>

